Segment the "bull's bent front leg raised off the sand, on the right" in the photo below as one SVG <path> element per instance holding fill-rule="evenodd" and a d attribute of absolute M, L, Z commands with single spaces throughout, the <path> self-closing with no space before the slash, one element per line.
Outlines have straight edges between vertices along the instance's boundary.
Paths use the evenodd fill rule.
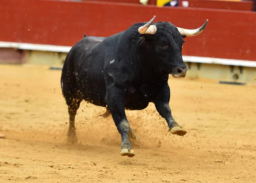
<path fill-rule="evenodd" d="M 157 94 L 157 97 L 154 100 L 154 104 L 157 109 L 157 112 L 159 112 L 159 114 L 163 118 L 165 118 L 169 126 L 169 131 L 172 134 L 183 136 L 186 134 L 186 130 L 184 130 L 172 117 L 172 111 L 169 106 L 169 101 L 170 101 L 170 88 L 168 83 L 166 83 L 166 85 Z"/>

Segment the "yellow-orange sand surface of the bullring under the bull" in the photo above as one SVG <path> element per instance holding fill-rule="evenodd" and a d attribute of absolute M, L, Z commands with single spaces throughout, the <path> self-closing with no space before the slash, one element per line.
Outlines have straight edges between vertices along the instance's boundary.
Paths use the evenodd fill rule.
<path fill-rule="evenodd" d="M 132 158 L 105 109 L 82 102 L 79 143 L 67 144 L 61 71 L 0 65 L 1 183 L 255 183 L 256 87 L 170 77 L 170 106 L 188 133 L 168 132 L 150 104 L 126 111 L 138 140 Z"/>

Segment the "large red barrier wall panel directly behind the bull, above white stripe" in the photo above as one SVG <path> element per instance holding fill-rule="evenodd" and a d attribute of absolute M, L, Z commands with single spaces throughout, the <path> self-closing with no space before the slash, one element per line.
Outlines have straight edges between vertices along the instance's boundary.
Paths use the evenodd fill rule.
<path fill-rule="evenodd" d="M 0 41 L 72 46 L 83 37 L 109 36 L 134 23 L 170 21 L 206 30 L 185 38 L 183 55 L 256 61 L 256 13 L 193 8 L 159 8 L 118 3 L 0 0 Z"/>

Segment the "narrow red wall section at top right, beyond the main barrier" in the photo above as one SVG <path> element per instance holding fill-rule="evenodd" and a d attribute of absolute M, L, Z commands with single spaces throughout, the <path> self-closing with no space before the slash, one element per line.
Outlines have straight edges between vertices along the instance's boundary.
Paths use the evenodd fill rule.
<path fill-rule="evenodd" d="M 188 1 L 192 8 L 211 8 L 211 9 L 228 9 L 254 11 L 255 1 L 221 1 L 221 0 L 180 0 L 179 6 L 182 6 L 183 1 Z"/>

